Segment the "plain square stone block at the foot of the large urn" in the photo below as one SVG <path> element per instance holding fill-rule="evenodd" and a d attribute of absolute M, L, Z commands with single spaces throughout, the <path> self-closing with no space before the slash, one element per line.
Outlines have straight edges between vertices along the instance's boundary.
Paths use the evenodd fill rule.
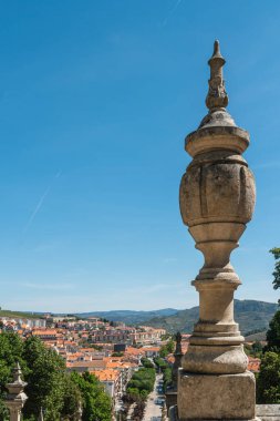
<path fill-rule="evenodd" d="M 188 374 L 180 371 L 178 417 L 187 420 L 255 419 L 255 376 Z M 245 399 L 246 398 L 246 399 Z"/>

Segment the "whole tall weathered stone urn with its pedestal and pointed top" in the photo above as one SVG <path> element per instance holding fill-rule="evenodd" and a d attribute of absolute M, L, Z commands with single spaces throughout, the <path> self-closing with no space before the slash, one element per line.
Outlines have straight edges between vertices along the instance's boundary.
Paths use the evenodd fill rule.
<path fill-rule="evenodd" d="M 193 161 L 180 183 L 180 213 L 205 264 L 193 281 L 199 292 L 199 320 L 178 381 L 180 420 L 255 418 L 255 378 L 247 371 L 243 337 L 234 319 L 234 291 L 241 283 L 230 254 L 252 217 L 256 188 L 241 156 L 249 145 L 249 133 L 238 127 L 226 111 L 225 62 L 215 41 L 208 61 L 209 112 L 186 137 L 186 151 Z M 227 384 L 235 391 L 227 392 Z M 222 391 L 224 403 L 215 408 L 218 390 Z"/>

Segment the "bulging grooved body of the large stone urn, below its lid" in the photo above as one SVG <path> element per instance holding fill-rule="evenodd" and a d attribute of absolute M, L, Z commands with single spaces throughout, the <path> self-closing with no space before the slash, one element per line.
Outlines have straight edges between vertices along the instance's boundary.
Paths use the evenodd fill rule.
<path fill-rule="evenodd" d="M 253 176 L 235 153 L 220 155 L 220 152 L 204 154 L 182 178 L 180 210 L 184 223 L 190 227 L 212 222 L 245 224 L 251 219 Z M 214 237 L 217 238 L 216 232 Z"/>

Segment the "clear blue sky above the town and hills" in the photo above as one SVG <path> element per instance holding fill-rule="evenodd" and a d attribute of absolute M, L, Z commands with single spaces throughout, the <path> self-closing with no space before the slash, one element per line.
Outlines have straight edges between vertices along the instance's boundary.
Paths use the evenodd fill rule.
<path fill-rule="evenodd" d="M 207 113 L 220 40 L 228 110 L 247 129 L 252 222 L 237 298 L 277 301 L 280 2 L 0 2 L 0 305 L 187 308 L 203 257 L 183 225 L 184 137 Z"/>

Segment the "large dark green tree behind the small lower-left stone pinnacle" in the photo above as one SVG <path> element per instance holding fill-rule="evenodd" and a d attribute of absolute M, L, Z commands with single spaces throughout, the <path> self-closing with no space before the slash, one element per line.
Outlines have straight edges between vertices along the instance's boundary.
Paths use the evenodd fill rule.
<path fill-rule="evenodd" d="M 0 420 L 6 420 L 3 404 L 4 384 L 12 379 L 11 369 L 19 362 L 24 380 L 28 401 L 23 409 L 24 421 L 37 420 L 41 407 L 45 421 L 72 417 L 81 400 L 77 387 L 71 383 L 65 363 L 53 350 L 46 349 L 40 339 L 31 337 L 24 342 L 14 332 L 0 335 Z M 8 418 L 9 419 L 9 418 Z"/>

